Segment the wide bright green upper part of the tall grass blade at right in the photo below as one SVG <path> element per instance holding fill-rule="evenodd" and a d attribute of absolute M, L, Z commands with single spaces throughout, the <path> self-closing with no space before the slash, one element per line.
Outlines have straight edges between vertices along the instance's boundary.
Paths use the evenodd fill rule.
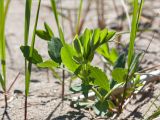
<path fill-rule="evenodd" d="M 133 10 L 133 17 L 132 17 L 132 26 L 131 26 L 131 33 L 130 33 L 130 43 L 129 43 L 129 50 L 128 50 L 128 68 L 130 68 L 132 58 L 134 55 L 134 43 L 136 39 L 136 33 L 138 28 L 138 22 L 142 11 L 143 0 L 141 0 L 140 7 L 138 4 L 138 0 L 134 0 L 134 10 Z"/>

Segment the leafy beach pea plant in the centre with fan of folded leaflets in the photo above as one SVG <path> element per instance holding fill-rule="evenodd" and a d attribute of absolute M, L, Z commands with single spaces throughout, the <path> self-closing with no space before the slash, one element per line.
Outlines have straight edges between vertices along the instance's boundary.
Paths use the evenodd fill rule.
<path fill-rule="evenodd" d="M 40 34 L 38 32 L 37 34 Z M 68 69 L 67 71 L 82 80 L 81 91 L 86 99 L 89 91 L 94 91 L 98 97 L 95 108 L 100 112 L 106 113 L 104 111 L 104 109 L 107 110 L 106 99 L 115 87 L 110 89 L 110 81 L 105 72 L 91 65 L 91 62 L 97 48 L 106 44 L 114 35 L 115 32 L 108 29 L 86 29 L 82 35 L 75 36 L 71 45 L 65 43 L 63 46 L 59 38 L 52 36 L 52 39 L 48 42 L 48 53 L 51 60 L 37 65 L 38 67 L 48 68 L 60 67 L 60 63 L 65 65 Z M 41 35 L 39 36 L 42 38 Z M 101 93 L 102 91 L 103 93 Z"/>

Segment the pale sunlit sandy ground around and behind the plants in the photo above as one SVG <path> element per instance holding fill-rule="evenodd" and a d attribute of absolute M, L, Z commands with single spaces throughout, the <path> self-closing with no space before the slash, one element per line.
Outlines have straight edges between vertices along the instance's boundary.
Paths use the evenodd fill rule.
<path fill-rule="evenodd" d="M 152 3 L 151 3 L 152 2 Z M 9 109 L 8 113 L 11 120 L 23 120 L 24 115 L 24 60 L 23 56 L 20 52 L 20 45 L 23 45 L 23 27 L 24 27 L 24 0 L 12 0 L 9 8 L 9 14 L 7 16 L 6 22 L 6 36 L 8 43 L 8 54 L 7 54 L 7 79 L 8 86 L 14 80 L 16 75 L 21 72 L 19 78 L 14 84 L 10 95 L 9 95 Z M 117 23 L 116 16 L 117 14 L 121 14 L 122 6 L 120 2 L 117 2 L 117 6 L 120 9 L 118 13 L 116 13 L 113 3 L 111 0 L 105 1 L 105 19 L 106 24 L 109 28 L 111 28 L 112 24 Z M 74 6 L 75 5 L 75 6 Z M 74 0 L 64 0 L 62 3 L 63 7 L 66 8 L 75 8 L 78 5 L 78 2 Z M 85 4 L 86 6 L 86 4 Z M 33 30 L 35 14 L 37 8 L 37 0 L 33 0 L 32 7 L 32 16 L 31 16 L 31 31 Z M 96 12 L 94 10 L 95 4 L 93 3 L 91 6 L 91 11 L 89 12 L 85 26 L 89 28 L 97 27 L 97 17 Z M 142 62 L 142 67 L 150 67 L 153 65 L 159 64 L 160 61 L 160 16 L 154 12 L 155 9 L 159 9 L 159 0 L 149 1 L 146 0 L 144 4 L 144 11 L 149 17 L 151 17 L 152 25 L 150 28 L 156 29 L 158 32 L 145 32 L 141 33 L 136 41 L 136 49 L 145 51 L 149 41 L 152 39 L 154 34 L 154 39 L 144 56 L 144 60 Z M 66 11 L 64 11 L 66 12 Z M 75 11 L 71 12 L 71 16 L 73 17 L 76 14 Z M 54 16 L 52 14 L 49 0 L 42 0 L 40 17 L 38 22 L 38 28 L 43 28 L 43 23 L 46 21 L 49 25 L 52 26 L 52 30 L 57 34 L 57 28 L 54 20 Z M 64 31 L 66 39 L 69 39 L 71 36 L 71 30 L 69 29 L 68 21 L 64 20 Z M 145 20 L 144 20 L 145 23 Z M 127 21 L 124 21 L 124 26 L 127 26 Z M 126 30 L 127 27 L 124 27 Z M 32 32 L 30 32 L 30 39 Z M 126 42 L 128 39 L 128 35 L 124 35 L 122 37 L 122 41 Z M 39 53 L 43 56 L 44 59 L 48 58 L 47 55 L 47 43 L 39 38 L 36 38 L 36 48 L 39 50 Z M 97 61 L 96 61 L 97 62 Z M 97 62 L 98 63 L 98 62 Z M 49 78 L 48 78 L 49 77 Z M 49 79 L 49 81 L 48 81 Z M 66 93 L 69 94 L 68 91 L 68 81 L 66 81 Z M 145 97 L 142 93 L 138 94 L 135 99 L 131 101 L 131 103 L 127 106 L 126 110 L 120 116 L 122 119 L 140 119 L 143 116 L 143 113 L 148 109 L 151 101 L 155 98 L 155 96 L 160 92 L 159 91 L 159 83 L 153 84 L 154 90 L 151 90 L 149 95 L 147 94 Z M 150 87 L 147 87 L 148 89 Z M 18 94 L 15 90 L 21 91 L 22 94 Z M 16 93 L 14 93 L 14 91 Z M 144 90 L 144 92 L 146 92 Z M 148 92 L 147 92 L 148 93 Z M 150 96 L 151 94 L 151 96 Z M 30 96 L 29 96 L 29 104 L 28 104 L 28 117 L 29 120 L 71 120 L 71 119 L 91 119 L 93 116 L 88 112 L 78 111 L 70 107 L 70 102 L 65 101 L 61 104 L 61 86 L 49 71 L 49 76 L 47 75 L 47 70 L 39 70 L 35 66 L 33 67 L 32 72 L 32 80 L 31 80 L 31 88 L 30 88 Z M 144 97 L 143 101 L 141 100 L 141 96 Z M 148 103 L 148 104 L 145 104 Z M 134 106 L 134 107 L 133 107 Z M 157 106 L 160 106 L 160 102 L 157 101 Z M 0 94 L 0 118 L 3 114 L 3 96 Z M 136 109 L 136 110 L 135 110 Z M 132 113 L 132 111 L 135 111 Z M 153 113 L 155 108 L 151 109 L 149 114 Z M 149 115 L 148 114 L 148 115 Z"/>

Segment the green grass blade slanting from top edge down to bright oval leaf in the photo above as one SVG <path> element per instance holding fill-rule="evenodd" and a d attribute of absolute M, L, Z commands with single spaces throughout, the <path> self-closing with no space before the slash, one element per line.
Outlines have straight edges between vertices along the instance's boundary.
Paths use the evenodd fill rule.
<path fill-rule="evenodd" d="M 58 19 L 58 11 L 57 11 L 57 7 L 56 7 L 56 2 L 55 2 L 55 0 L 50 0 L 50 1 L 51 1 L 51 5 L 52 5 L 52 11 L 54 13 L 54 17 L 56 20 L 56 24 L 58 27 L 59 37 L 61 39 L 62 44 L 65 45 L 64 34 L 63 34 L 63 31 L 62 31 L 62 28 L 60 26 L 59 19 Z"/>

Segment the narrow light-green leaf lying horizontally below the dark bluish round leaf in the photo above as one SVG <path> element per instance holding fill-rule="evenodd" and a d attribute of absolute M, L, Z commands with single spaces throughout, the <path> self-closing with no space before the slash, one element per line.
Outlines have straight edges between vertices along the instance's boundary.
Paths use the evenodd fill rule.
<path fill-rule="evenodd" d="M 53 60 L 47 60 L 42 63 L 38 63 L 37 66 L 40 68 L 54 68 L 54 67 L 58 67 L 59 64 L 54 62 Z"/>

